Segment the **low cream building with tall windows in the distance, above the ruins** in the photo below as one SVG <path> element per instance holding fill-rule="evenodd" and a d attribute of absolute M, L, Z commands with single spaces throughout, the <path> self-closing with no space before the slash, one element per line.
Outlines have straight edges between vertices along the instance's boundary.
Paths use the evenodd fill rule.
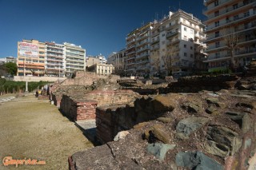
<path fill-rule="evenodd" d="M 110 75 L 114 73 L 114 65 L 94 64 L 87 68 L 88 71 L 97 73 L 98 75 Z"/>

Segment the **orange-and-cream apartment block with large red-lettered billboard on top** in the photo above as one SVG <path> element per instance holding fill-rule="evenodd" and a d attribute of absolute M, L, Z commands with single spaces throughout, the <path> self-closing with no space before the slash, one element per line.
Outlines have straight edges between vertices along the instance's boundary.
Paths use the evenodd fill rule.
<path fill-rule="evenodd" d="M 18 76 L 43 76 L 45 74 L 45 43 L 38 40 L 18 42 Z"/>

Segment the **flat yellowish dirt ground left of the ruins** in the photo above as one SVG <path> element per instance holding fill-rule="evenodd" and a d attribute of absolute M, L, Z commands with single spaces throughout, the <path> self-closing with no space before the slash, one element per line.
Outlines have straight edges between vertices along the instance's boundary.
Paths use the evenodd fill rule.
<path fill-rule="evenodd" d="M 0 129 L 0 169 L 68 169 L 68 156 L 93 147 L 56 106 L 32 95 L 0 104 Z M 6 156 L 46 160 L 46 165 L 4 167 Z"/>

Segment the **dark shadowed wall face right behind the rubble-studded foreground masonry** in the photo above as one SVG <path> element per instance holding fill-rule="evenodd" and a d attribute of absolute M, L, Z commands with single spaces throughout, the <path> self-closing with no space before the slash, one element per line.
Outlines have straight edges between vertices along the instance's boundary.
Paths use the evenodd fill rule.
<path fill-rule="evenodd" d="M 131 105 L 104 106 L 96 109 L 96 137 L 105 144 L 118 132 L 133 128 L 143 121 L 161 117 L 165 111 L 174 109 L 173 101 L 163 96 L 141 97 Z"/>

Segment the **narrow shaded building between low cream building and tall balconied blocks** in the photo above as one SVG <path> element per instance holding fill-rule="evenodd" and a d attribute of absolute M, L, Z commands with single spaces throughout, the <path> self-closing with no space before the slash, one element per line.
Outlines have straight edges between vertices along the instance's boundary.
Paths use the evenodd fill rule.
<path fill-rule="evenodd" d="M 115 73 L 126 76 L 125 59 L 126 49 L 122 49 L 117 53 L 111 53 L 110 56 L 107 57 L 107 64 L 114 65 Z"/>

